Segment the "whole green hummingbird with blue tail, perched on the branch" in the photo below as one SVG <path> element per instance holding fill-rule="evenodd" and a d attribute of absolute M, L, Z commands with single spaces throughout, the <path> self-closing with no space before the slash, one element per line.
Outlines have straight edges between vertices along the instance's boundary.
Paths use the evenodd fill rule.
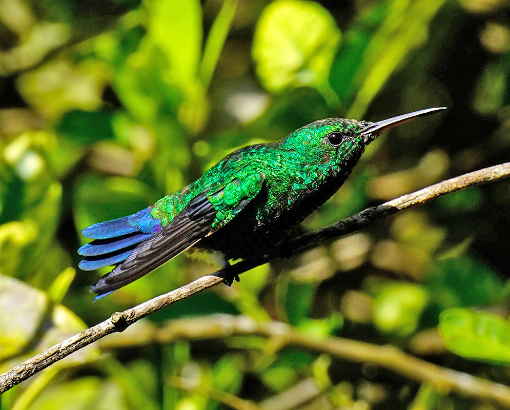
<path fill-rule="evenodd" d="M 90 291 L 96 299 L 158 268 L 189 248 L 254 260 L 284 249 L 291 231 L 329 199 L 383 131 L 445 107 L 382 121 L 326 118 L 287 137 L 232 152 L 196 181 L 133 215 L 81 233 L 81 270 L 114 266 Z M 228 270 L 227 270 L 228 272 Z M 236 275 L 225 277 L 231 285 Z"/>

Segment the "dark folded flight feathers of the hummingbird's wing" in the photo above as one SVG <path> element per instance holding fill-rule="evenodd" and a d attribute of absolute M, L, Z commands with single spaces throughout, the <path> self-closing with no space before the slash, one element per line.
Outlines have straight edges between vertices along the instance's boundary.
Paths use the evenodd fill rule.
<path fill-rule="evenodd" d="M 138 244 L 123 262 L 92 285 L 90 291 L 101 296 L 153 271 L 209 235 L 215 218 L 216 209 L 207 195 L 197 195 L 166 227 Z"/>

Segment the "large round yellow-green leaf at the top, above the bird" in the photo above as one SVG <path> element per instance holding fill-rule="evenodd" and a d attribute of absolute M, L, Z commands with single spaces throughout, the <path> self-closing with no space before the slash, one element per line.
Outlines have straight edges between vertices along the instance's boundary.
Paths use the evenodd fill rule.
<path fill-rule="evenodd" d="M 270 92 L 320 86 L 329 76 L 340 30 L 328 10 L 315 2 L 276 0 L 255 28 L 252 56 Z"/>

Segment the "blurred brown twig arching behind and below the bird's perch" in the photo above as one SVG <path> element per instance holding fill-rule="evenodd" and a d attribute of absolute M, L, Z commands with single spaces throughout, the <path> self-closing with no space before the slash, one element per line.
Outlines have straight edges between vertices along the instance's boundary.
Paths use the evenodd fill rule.
<path fill-rule="evenodd" d="M 171 320 L 160 329 L 149 326 L 131 335 L 117 335 L 101 342 L 101 348 L 168 343 L 179 339 L 205 340 L 232 336 L 262 336 L 277 340 L 278 347 L 299 347 L 333 357 L 384 367 L 411 380 L 429 383 L 438 392 L 455 392 L 464 397 L 489 399 L 510 407 L 510 387 L 464 372 L 432 364 L 392 345 L 377 345 L 341 337 L 316 338 L 299 333 L 282 322 L 258 323 L 248 316 L 211 315 Z"/>

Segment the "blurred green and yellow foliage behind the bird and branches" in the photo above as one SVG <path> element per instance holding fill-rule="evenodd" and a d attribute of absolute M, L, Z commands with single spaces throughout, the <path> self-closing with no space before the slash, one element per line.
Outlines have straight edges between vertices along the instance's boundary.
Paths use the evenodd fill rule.
<path fill-rule="evenodd" d="M 0 370 L 215 270 L 178 257 L 92 304 L 107 271 L 75 270 L 89 224 L 319 118 L 449 107 L 377 139 L 301 230 L 323 227 L 508 160 L 509 76 L 505 0 L 0 0 Z M 0 408 L 496 408 L 261 335 L 150 335 L 244 315 L 509 384 L 509 198 L 507 182 L 472 188 L 263 265 L 58 362 Z"/>

